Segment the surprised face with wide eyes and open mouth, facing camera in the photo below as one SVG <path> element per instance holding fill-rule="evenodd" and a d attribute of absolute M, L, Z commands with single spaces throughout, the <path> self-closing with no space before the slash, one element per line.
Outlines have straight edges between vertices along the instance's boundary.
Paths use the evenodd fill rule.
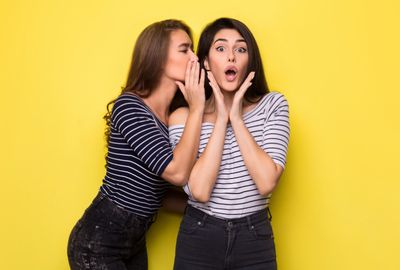
<path fill-rule="evenodd" d="M 244 38 L 235 29 L 222 29 L 215 34 L 208 57 L 204 61 L 219 87 L 236 91 L 245 78 L 249 54 Z"/>

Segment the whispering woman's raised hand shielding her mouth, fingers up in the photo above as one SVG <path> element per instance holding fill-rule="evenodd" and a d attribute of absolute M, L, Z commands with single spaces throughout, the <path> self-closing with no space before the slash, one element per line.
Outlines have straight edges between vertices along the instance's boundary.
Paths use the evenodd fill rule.
<path fill-rule="evenodd" d="M 180 81 L 175 82 L 188 103 L 189 110 L 204 111 L 204 79 L 205 72 L 204 69 L 200 71 L 199 62 L 190 60 L 186 66 L 185 84 Z"/>

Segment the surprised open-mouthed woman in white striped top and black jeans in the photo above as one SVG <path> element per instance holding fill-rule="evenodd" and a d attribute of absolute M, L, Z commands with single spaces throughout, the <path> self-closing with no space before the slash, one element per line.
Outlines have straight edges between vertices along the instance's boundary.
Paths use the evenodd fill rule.
<path fill-rule="evenodd" d="M 269 92 L 257 43 L 242 22 L 209 24 L 197 55 L 208 99 L 198 159 L 184 186 L 189 200 L 174 269 L 276 269 L 268 205 L 286 161 L 287 101 Z M 171 115 L 173 146 L 187 115 L 184 107 Z"/>

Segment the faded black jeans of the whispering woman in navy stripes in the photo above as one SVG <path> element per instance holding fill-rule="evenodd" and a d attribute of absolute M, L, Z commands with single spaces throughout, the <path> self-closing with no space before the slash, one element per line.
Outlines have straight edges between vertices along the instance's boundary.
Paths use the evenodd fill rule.
<path fill-rule="evenodd" d="M 145 235 L 152 222 L 153 218 L 128 212 L 99 192 L 69 237 L 71 269 L 147 269 Z"/>

